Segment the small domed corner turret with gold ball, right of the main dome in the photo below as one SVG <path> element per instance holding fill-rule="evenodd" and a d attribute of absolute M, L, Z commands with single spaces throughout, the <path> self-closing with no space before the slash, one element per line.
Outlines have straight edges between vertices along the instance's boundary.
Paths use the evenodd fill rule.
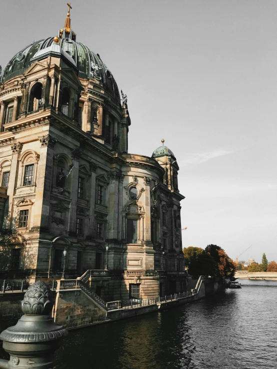
<path fill-rule="evenodd" d="M 151 158 L 155 159 L 158 164 L 164 169 L 163 184 L 165 184 L 169 190 L 178 191 L 178 164 L 173 152 L 164 145 L 164 139 L 161 140 L 162 146 L 159 146 L 152 153 Z"/>

